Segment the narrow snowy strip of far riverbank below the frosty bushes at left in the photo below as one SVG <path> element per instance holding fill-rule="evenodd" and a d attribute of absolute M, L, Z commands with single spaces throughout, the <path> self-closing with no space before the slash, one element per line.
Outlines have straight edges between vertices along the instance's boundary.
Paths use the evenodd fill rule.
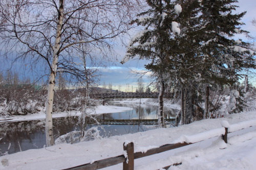
<path fill-rule="evenodd" d="M 117 113 L 123 111 L 133 110 L 133 108 L 129 107 L 118 107 L 118 106 L 97 106 L 95 110 L 87 110 L 89 114 L 103 114 L 103 113 Z M 79 116 L 81 115 L 80 111 L 70 111 L 70 112 L 57 112 L 53 113 L 53 118 L 57 117 L 66 117 L 66 116 Z M 0 123 L 3 122 L 19 122 L 24 120 L 37 120 L 37 119 L 45 119 L 45 111 L 42 110 L 38 113 L 28 114 L 28 115 L 13 115 L 10 117 L 0 116 Z"/>

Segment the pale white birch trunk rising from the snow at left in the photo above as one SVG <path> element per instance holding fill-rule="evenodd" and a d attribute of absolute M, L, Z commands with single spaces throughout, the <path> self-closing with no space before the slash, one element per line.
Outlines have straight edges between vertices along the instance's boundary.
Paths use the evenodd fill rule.
<path fill-rule="evenodd" d="M 46 144 L 47 147 L 54 144 L 53 138 L 53 123 L 52 123 L 52 107 L 53 107 L 53 94 L 55 86 L 55 78 L 57 72 L 58 53 L 61 38 L 62 20 L 63 20 L 63 6 L 64 0 L 59 0 L 58 21 L 56 29 L 55 44 L 53 46 L 53 61 L 51 65 L 51 74 L 49 77 L 47 104 L 46 104 Z"/>

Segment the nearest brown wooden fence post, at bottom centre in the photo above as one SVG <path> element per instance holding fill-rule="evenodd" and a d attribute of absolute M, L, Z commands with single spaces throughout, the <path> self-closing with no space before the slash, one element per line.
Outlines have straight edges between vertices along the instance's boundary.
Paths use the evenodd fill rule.
<path fill-rule="evenodd" d="M 128 160 L 123 162 L 123 170 L 134 170 L 134 143 L 128 143 L 126 146 L 123 143 L 123 150 L 127 152 Z"/>

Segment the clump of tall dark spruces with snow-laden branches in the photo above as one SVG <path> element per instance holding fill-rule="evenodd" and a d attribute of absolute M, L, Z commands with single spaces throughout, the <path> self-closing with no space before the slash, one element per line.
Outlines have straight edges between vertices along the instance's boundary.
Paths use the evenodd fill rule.
<path fill-rule="evenodd" d="M 246 32 L 240 28 L 245 12 L 232 14 L 237 1 L 231 0 L 146 2 L 150 9 L 132 22 L 145 29 L 131 39 L 121 63 L 135 56 L 151 61 L 145 68 L 158 76 L 163 90 L 168 80 L 186 89 L 185 123 L 203 118 L 203 87 L 231 86 L 239 71 L 255 68 L 248 44 L 232 39 Z"/>

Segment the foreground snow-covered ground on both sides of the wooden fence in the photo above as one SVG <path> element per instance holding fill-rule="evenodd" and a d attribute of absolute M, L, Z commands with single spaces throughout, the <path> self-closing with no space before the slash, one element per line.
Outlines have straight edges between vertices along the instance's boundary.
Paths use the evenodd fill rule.
<path fill-rule="evenodd" d="M 208 133 L 206 131 L 211 130 L 210 134 L 216 132 L 214 129 L 222 127 L 222 120 L 227 120 L 230 125 L 248 120 L 255 122 L 256 112 L 225 115 L 222 118 L 200 120 L 176 128 L 155 129 L 94 141 L 57 144 L 48 148 L 19 152 L 0 157 L 2 162 L 0 169 L 69 168 L 122 155 L 123 142 L 127 140 L 135 143 L 136 152 L 174 143 L 177 140 L 187 139 L 189 136 L 199 133 L 201 133 L 201 137 L 207 137 Z M 251 127 L 239 132 L 241 133 L 239 136 L 231 137 L 231 134 L 228 135 L 229 143 L 227 145 L 220 137 L 215 137 L 180 149 L 136 159 L 135 169 L 159 169 L 180 162 L 182 162 L 181 165 L 172 166 L 172 169 L 256 169 L 256 128 Z M 105 169 L 122 169 L 122 164 Z"/>

